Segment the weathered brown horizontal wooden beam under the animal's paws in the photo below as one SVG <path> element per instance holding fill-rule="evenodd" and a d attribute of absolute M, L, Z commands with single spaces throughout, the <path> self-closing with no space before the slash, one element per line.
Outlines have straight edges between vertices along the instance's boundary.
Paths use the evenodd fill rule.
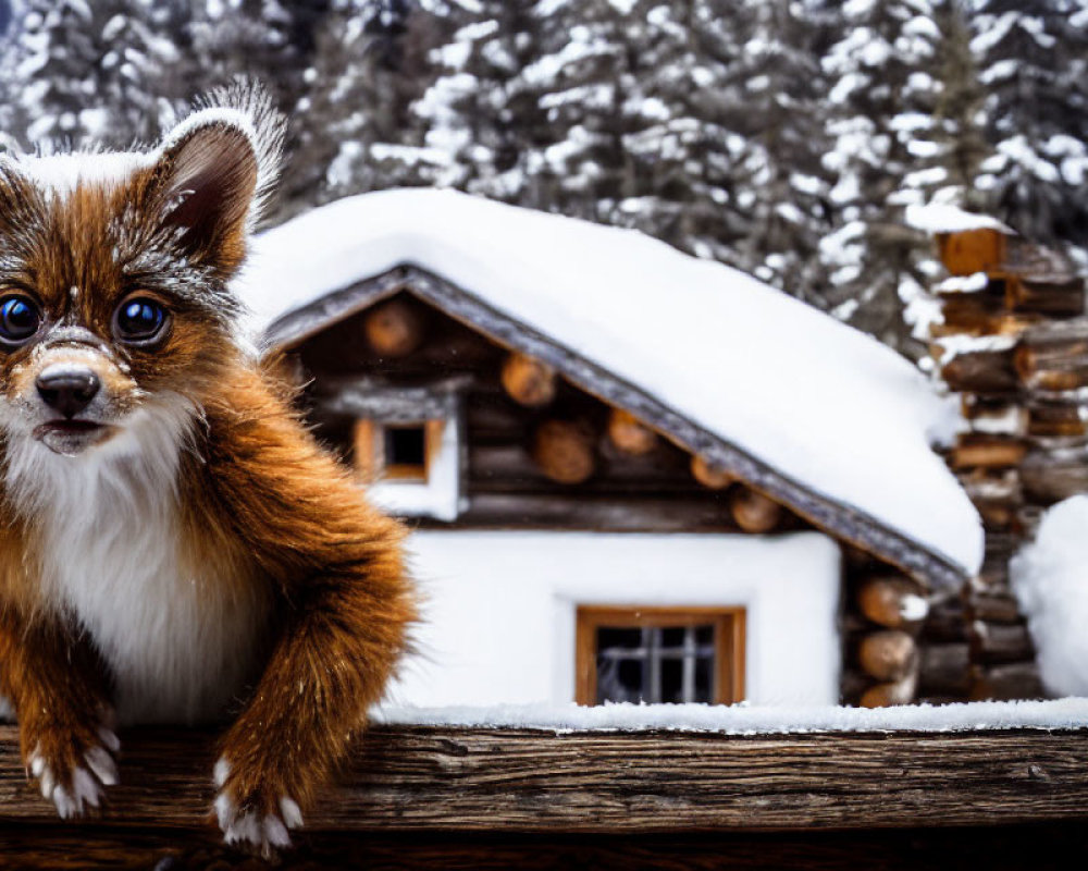
<path fill-rule="evenodd" d="M 0 827 L 73 823 L 0 727 Z M 121 785 L 85 830 L 207 833 L 213 736 L 122 735 Z M 727 736 L 376 727 L 307 831 L 707 833 L 1088 822 L 1088 729 Z"/>

